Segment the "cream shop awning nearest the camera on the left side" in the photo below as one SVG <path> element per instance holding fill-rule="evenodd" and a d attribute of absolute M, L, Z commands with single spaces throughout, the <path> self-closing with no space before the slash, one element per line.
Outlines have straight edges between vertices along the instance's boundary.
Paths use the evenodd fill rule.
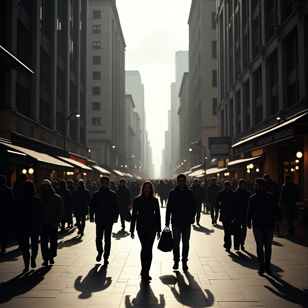
<path fill-rule="evenodd" d="M 34 150 L 30 150 L 30 149 L 26 149 L 26 148 L 22 148 L 22 147 L 18 147 L 17 145 L 13 145 L 13 144 L 9 144 L 9 143 L 4 143 L 4 142 L 0 142 L 3 145 L 6 145 L 9 148 L 13 148 L 17 151 L 20 151 L 22 153 L 25 153 L 26 155 L 29 155 L 33 158 L 35 158 L 36 160 L 38 160 L 39 162 L 41 162 L 37 167 L 41 168 L 41 169 L 50 169 L 50 170 L 59 170 L 59 168 L 57 168 L 57 166 L 60 167 L 67 167 L 67 170 L 71 170 L 72 168 L 74 168 L 74 166 L 67 164 L 59 159 L 56 159 L 55 157 L 52 157 L 50 155 L 44 154 L 44 153 L 39 153 L 36 152 Z M 66 171 L 64 169 L 62 169 L 63 171 Z"/>

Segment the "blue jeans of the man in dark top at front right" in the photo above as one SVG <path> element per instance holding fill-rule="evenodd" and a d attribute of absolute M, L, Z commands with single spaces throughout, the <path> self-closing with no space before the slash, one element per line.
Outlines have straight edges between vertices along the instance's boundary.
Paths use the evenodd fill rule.
<path fill-rule="evenodd" d="M 270 259 L 272 257 L 272 242 L 274 237 L 274 228 L 268 228 L 268 229 L 252 228 L 252 230 L 254 239 L 257 244 L 257 256 L 259 265 L 270 266 Z"/>

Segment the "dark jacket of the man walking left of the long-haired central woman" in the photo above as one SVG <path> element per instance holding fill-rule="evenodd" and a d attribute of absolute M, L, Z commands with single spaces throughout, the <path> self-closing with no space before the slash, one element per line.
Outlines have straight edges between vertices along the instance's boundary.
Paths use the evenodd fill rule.
<path fill-rule="evenodd" d="M 120 205 L 115 192 L 99 188 L 92 196 L 90 205 L 90 219 L 95 218 L 99 225 L 113 225 L 113 220 L 119 218 Z M 95 215 L 95 217 L 94 217 Z"/>

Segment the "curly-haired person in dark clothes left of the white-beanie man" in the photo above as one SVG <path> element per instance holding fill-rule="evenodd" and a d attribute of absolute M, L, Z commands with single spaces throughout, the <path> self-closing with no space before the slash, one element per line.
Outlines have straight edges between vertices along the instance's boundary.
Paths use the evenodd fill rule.
<path fill-rule="evenodd" d="M 43 216 L 43 206 L 40 198 L 35 197 L 36 188 L 32 181 L 27 180 L 22 188 L 22 197 L 17 201 L 18 231 L 22 239 L 22 257 L 25 263 L 24 272 L 29 270 L 31 239 L 31 267 L 35 268 L 35 258 L 39 250 L 40 219 Z"/>

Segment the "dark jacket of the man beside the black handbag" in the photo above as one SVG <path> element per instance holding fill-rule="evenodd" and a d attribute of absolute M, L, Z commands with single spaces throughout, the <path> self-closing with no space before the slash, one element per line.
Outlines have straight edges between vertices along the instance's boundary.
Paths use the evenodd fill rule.
<path fill-rule="evenodd" d="M 197 213 L 197 202 L 193 191 L 185 185 L 180 190 L 179 185 L 170 190 L 166 209 L 166 223 L 170 222 L 175 225 L 189 225 Z"/>

